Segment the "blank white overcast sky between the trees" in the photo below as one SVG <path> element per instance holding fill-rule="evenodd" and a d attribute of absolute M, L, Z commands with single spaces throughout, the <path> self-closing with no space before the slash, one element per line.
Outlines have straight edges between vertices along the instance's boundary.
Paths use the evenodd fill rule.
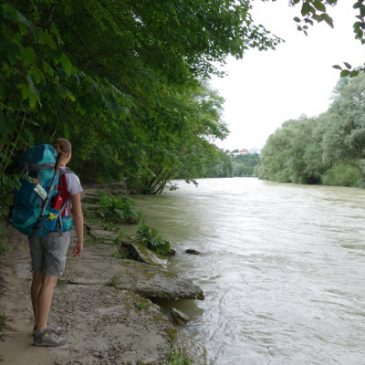
<path fill-rule="evenodd" d="M 231 134 L 216 144 L 225 149 L 262 148 L 283 122 L 302 114 L 315 116 L 328 109 L 343 61 L 353 66 L 365 61 L 365 46 L 352 32 L 353 0 L 339 0 L 329 9 L 334 29 L 327 24 L 309 28 L 308 37 L 292 20 L 300 7 L 287 0 L 256 1 L 253 18 L 284 38 L 275 51 L 249 50 L 244 59 L 227 59 L 228 75 L 213 77 L 211 86 L 224 97 L 223 120 Z"/>

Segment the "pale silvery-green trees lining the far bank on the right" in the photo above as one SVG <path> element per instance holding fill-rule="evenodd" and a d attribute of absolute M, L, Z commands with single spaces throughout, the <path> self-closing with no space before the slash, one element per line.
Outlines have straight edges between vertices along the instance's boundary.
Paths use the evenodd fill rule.
<path fill-rule="evenodd" d="M 258 176 L 278 182 L 364 186 L 365 75 L 341 79 L 327 112 L 285 122 L 262 150 Z"/>

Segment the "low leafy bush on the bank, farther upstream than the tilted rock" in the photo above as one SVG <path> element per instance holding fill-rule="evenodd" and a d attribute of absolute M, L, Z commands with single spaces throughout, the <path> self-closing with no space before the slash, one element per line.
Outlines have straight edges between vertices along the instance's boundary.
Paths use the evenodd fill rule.
<path fill-rule="evenodd" d="M 105 222 L 134 224 L 141 220 L 142 213 L 128 197 L 118 197 L 107 193 L 98 195 L 99 206 L 96 215 Z"/>

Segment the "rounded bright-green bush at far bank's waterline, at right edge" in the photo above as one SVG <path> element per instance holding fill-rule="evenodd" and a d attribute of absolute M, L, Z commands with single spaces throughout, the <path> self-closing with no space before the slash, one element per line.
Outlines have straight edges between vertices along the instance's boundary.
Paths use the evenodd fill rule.
<path fill-rule="evenodd" d="M 324 185 L 359 186 L 362 171 L 357 162 L 341 162 L 332 166 L 323 175 Z"/>

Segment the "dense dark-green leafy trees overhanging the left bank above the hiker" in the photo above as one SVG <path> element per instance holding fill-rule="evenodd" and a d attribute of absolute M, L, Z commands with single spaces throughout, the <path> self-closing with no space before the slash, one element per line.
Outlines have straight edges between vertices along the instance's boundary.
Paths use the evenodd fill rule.
<path fill-rule="evenodd" d="M 279 42 L 250 9 L 248 0 L 3 1 L 1 191 L 25 145 L 60 135 L 84 177 L 124 177 L 147 192 L 191 156 L 203 161 L 207 141 L 226 133 L 204 79 L 229 54 Z"/>

